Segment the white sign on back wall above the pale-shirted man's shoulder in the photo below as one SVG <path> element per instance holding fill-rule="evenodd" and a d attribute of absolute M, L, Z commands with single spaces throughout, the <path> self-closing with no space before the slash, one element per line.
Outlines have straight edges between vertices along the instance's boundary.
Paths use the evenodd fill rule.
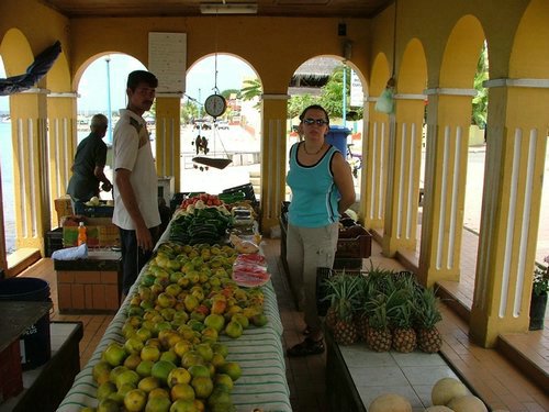
<path fill-rule="evenodd" d="M 184 92 L 187 34 L 148 33 L 148 69 L 158 78 L 157 93 Z"/>

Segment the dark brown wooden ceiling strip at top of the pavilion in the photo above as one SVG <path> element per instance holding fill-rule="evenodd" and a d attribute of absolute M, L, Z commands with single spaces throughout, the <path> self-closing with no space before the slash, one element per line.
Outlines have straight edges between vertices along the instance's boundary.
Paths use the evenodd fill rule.
<path fill-rule="evenodd" d="M 41 0 L 69 18 L 197 16 L 201 4 L 257 4 L 260 16 L 373 18 L 394 0 Z"/>

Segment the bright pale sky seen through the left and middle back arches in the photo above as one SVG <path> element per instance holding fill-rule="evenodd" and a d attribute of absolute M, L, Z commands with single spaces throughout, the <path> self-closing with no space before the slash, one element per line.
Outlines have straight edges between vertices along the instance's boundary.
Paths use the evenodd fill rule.
<path fill-rule="evenodd" d="M 125 83 L 127 74 L 145 67 L 135 58 L 122 55 L 110 55 L 109 65 L 105 56 L 98 58 L 86 69 L 78 85 L 78 111 L 79 112 L 107 112 L 109 108 L 108 93 L 108 66 L 111 83 L 110 103 L 111 110 L 125 108 Z M 247 63 L 237 57 L 217 55 L 217 89 L 220 92 L 226 89 L 240 89 L 246 78 L 256 77 L 254 70 Z M 0 78 L 5 78 L 3 63 L 0 58 Z M 209 56 L 194 64 L 189 70 L 186 79 L 186 94 L 201 102 L 213 92 L 215 86 L 215 57 Z M 0 111 L 8 111 L 8 97 L 0 97 Z"/>

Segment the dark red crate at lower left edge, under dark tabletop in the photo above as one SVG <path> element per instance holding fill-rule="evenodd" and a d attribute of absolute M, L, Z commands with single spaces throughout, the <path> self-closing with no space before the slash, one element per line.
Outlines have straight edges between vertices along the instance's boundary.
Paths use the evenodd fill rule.
<path fill-rule="evenodd" d="M 23 390 L 23 369 L 19 339 L 0 353 L 0 403 Z"/>

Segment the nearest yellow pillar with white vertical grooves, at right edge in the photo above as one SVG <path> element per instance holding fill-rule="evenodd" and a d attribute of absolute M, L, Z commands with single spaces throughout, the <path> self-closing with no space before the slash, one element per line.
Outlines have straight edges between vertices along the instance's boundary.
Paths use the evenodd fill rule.
<path fill-rule="evenodd" d="M 486 86 L 486 167 L 470 337 L 493 347 L 498 334 L 528 330 L 549 79 L 496 79 Z"/>

